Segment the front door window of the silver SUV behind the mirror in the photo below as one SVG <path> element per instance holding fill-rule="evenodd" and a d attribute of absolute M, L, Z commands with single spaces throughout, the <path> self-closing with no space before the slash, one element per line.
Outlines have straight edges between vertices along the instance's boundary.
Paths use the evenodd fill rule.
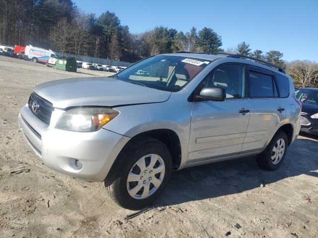
<path fill-rule="evenodd" d="M 244 82 L 244 65 L 226 63 L 216 67 L 206 77 L 203 88 L 224 88 L 226 98 L 243 98 Z"/>

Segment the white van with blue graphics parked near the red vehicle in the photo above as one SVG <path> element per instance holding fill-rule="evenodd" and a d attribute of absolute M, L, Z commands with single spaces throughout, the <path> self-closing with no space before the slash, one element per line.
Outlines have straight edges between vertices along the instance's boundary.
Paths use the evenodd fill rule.
<path fill-rule="evenodd" d="M 25 47 L 24 54 L 25 54 L 25 58 L 28 58 L 32 60 L 33 62 L 55 64 L 55 61 L 57 58 L 56 54 L 52 50 L 46 50 L 43 48 L 34 47 L 32 45 L 28 45 Z M 55 59 L 53 60 L 53 58 Z"/>

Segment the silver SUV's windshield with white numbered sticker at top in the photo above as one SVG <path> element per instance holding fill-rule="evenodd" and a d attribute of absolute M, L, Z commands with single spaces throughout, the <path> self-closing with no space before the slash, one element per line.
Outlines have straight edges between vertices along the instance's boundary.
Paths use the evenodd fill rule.
<path fill-rule="evenodd" d="M 119 80 L 177 92 L 211 61 L 181 56 L 154 56 L 114 75 Z"/>

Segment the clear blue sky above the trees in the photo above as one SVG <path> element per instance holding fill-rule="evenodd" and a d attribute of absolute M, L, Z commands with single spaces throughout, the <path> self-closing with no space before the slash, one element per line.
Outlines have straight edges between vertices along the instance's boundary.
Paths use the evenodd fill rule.
<path fill-rule="evenodd" d="M 132 33 L 166 26 L 188 32 L 210 27 L 223 46 L 246 41 L 252 50 L 278 50 L 284 60 L 318 62 L 318 0 L 74 0 L 86 13 L 115 12 Z"/>

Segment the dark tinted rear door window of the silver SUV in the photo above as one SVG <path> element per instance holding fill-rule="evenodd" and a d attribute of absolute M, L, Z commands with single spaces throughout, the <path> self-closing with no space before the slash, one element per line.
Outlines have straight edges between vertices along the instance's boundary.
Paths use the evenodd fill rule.
<path fill-rule="evenodd" d="M 249 71 L 249 96 L 252 98 L 278 97 L 273 76 Z"/>

